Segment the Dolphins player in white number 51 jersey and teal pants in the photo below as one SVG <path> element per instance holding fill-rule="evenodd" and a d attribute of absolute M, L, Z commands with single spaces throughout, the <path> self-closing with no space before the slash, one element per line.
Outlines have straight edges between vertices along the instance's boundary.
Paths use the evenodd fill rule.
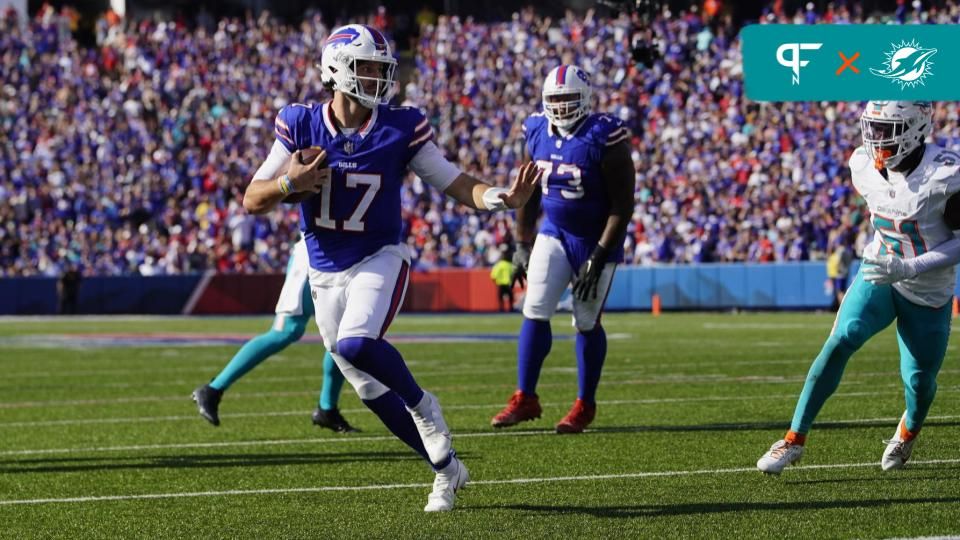
<path fill-rule="evenodd" d="M 910 459 L 937 391 L 957 281 L 951 250 L 953 230 L 960 228 L 960 155 L 925 142 L 933 131 L 927 102 L 871 101 L 860 124 L 863 146 L 851 155 L 850 172 L 876 232 L 810 367 L 790 430 L 757 461 L 765 473 L 779 474 L 800 460 L 810 426 L 837 389 L 847 360 L 894 320 L 906 410 L 886 441 L 883 470 Z M 929 246 L 939 247 L 928 252 Z"/>

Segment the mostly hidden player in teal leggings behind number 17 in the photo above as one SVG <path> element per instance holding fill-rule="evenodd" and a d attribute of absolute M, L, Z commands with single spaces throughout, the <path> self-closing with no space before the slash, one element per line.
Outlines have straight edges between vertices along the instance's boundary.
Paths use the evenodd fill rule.
<path fill-rule="evenodd" d="M 302 239 L 293 248 L 287 275 L 277 300 L 277 316 L 273 326 L 264 334 L 244 343 L 230 362 L 209 384 L 193 391 L 200 416 L 215 426 L 220 425 L 220 400 L 224 392 L 250 370 L 267 358 L 296 343 L 313 317 L 313 300 L 307 287 L 307 245 Z M 351 426 L 340 413 L 337 404 L 343 388 L 343 374 L 328 352 L 323 356 L 323 386 L 320 401 L 313 411 L 313 424 L 332 429 L 338 433 L 359 431 Z"/>

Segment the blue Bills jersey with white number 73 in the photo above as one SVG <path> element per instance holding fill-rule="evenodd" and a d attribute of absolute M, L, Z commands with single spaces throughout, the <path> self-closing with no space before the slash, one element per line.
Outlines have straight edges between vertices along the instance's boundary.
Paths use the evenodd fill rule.
<path fill-rule="evenodd" d="M 630 137 L 630 130 L 606 114 L 587 116 L 576 130 L 561 135 L 542 113 L 523 123 L 527 151 L 543 169 L 544 218 L 540 233 L 560 240 L 574 270 L 590 257 L 610 214 L 600 164 L 604 152 Z M 616 246 L 609 262 L 623 260 Z"/>

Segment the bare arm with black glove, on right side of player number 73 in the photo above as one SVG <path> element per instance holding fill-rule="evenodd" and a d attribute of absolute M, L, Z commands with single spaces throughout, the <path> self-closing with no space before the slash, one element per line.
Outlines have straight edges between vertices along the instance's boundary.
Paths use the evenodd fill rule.
<path fill-rule="evenodd" d="M 573 280 L 573 295 L 578 300 L 589 301 L 597 297 L 600 274 L 610 258 L 610 253 L 623 244 L 627 233 L 627 224 L 633 215 L 633 190 L 636 185 L 636 173 L 630 147 L 626 142 L 612 146 L 600 162 L 600 171 L 610 200 L 610 213 L 603 228 L 600 241 L 590 254 L 590 258 L 580 267 Z"/>

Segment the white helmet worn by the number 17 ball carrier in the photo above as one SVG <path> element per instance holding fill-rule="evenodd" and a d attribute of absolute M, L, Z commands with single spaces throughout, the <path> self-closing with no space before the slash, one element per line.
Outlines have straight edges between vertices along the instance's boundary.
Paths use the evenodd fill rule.
<path fill-rule="evenodd" d="M 357 62 L 364 61 L 381 64 L 380 76 L 359 75 Z M 324 86 L 355 98 L 368 109 L 389 102 L 396 93 L 396 71 L 397 61 L 390 43 L 376 28 L 362 24 L 341 26 L 330 33 L 323 45 L 320 80 Z M 368 86 L 364 86 L 365 82 Z"/>

